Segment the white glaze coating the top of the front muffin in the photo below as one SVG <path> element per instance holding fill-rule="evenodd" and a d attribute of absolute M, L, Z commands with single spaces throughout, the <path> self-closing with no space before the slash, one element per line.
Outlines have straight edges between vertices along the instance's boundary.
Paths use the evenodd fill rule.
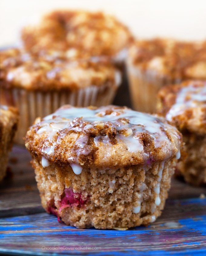
<path fill-rule="evenodd" d="M 111 109 L 112 112 L 107 114 Z M 74 126 L 73 121 L 75 121 L 77 117 L 82 117 L 82 123 L 88 122 L 89 124 L 85 126 Z M 127 121 L 125 121 L 125 119 Z M 161 147 L 161 150 L 164 150 L 166 144 L 170 145 L 171 143 L 164 132 L 168 129 L 169 125 L 162 123 L 161 120 L 149 114 L 136 112 L 127 108 L 117 108 L 115 106 L 101 107 L 99 109 L 64 106 L 55 113 L 46 116 L 37 124 L 38 130 L 36 133 L 45 133 L 47 137 L 42 147 L 42 155 L 53 156 L 55 147 L 61 143 L 61 138 L 63 138 L 68 131 L 81 132 L 81 135 L 75 142 L 77 148 L 76 155 L 71 155 L 68 158 L 70 165 L 74 163 L 79 164 L 79 156 L 88 155 L 92 150 L 88 145 L 89 135 L 87 131 L 92 127 L 104 125 L 108 121 L 110 125 L 114 126 L 117 130 L 115 136 L 117 143 L 121 142 L 125 144 L 130 152 L 141 152 L 145 158 L 145 162 L 150 158 L 150 155 L 144 152 L 143 143 L 139 134 L 147 132 L 151 140 L 154 141 L 154 147 Z M 125 132 L 119 133 L 120 130 L 124 130 Z M 58 136 L 57 139 L 56 136 Z M 97 135 L 94 137 L 94 142 L 97 147 L 100 146 L 100 144 L 102 147 L 102 142 L 105 145 L 105 162 L 107 162 L 113 148 L 108 136 Z M 169 156 L 170 155 L 168 155 L 168 157 Z M 75 170 L 77 169 L 76 167 L 74 168 Z M 79 173 L 79 170 L 76 172 Z"/>

